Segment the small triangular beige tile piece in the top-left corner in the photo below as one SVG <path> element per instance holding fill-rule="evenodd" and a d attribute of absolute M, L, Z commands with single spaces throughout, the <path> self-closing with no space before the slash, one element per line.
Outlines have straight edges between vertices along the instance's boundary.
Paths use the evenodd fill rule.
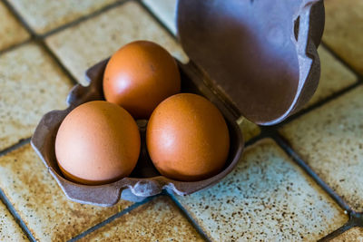
<path fill-rule="evenodd" d="M 25 28 L 16 21 L 2 2 L 0 2 L 0 36 L 0 50 L 25 41 L 29 37 Z"/>

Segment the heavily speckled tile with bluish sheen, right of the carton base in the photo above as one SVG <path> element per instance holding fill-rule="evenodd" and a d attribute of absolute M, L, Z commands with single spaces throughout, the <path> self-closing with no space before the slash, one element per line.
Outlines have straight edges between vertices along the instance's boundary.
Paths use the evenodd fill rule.
<path fill-rule="evenodd" d="M 211 189 L 177 198 L 213 241 L 316 241 L 348 220 L 272 140 Z"/>

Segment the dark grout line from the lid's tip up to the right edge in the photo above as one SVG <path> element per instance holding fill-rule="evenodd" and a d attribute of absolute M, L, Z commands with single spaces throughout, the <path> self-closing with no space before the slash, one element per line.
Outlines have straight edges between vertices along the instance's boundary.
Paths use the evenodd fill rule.
<path fill-rule="evenodd" d="M 273 129 L 280 129 L 282 126 L 288 124 L 289 122 L 297 120 L 302 115 L 305 115 L 305 114 L 307 114 L 307 113 L 309 113 L 311 111 L 314 111 L 314 110 L 324 106 L 328 102 L 331 102 L 333 100 L 336 100 L 336 99 L 340 98 L 344 94 L 352 91 L 353 89 L 355 89 L 356 87 L 358 87 L 358 86 L 360 86 L 362 84 L 363 84 L 362 82 L 357 81 L 357 82 L 351 84 L 350 86 L 348 86 L 348 87 L 346 87 L 344 89 L 341 89 L 338 92 L 335 92 L 335 93 L 331 94 L 329 97 L 324 98 L 323 100 L 320 100 L 319 102 L 316 102 L 316 103 L 312 104 L 308 108 L 302 109 L 301 111 L 298 111 L 297 113 L 292 114 L 291 116 L 289 116 L 289 118 L 287 120 L 282 121 L 282 122 L 280 122 L 280 123 L 278 123 L 276 125 L 270 126 L 270 127 L 273 128 Z"/>

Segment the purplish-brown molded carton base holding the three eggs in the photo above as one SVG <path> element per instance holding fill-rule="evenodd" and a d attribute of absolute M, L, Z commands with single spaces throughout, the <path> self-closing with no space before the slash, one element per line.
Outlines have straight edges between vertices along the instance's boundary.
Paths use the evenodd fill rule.
<path fill-rule="evenodd" d="M 74 86 L 67 97 L 67 103 L 69 105 L 67 109 L 64 111 L 50 111 L 44 115 L 34 131 L 31 140 L 34 150 L 43 160 L 45 167 L 52 174 L 58 185 L 63 189 L 67 198 L 83 204 L 108 207 L 113 206 L 120 198 L 131 201 L 141 201 L 144 198 L 161 193 L 163 189 L 178 195 L 187 195 L 217 183 L 231 172 L 240 158 L 243 149 L 243 141 L 240 128 L 231 113 L 225 109 L 220 109 L 229 127 L 231 149 L 225 167 L 219 174 L 210 179 L 188 182 L 168 179 L 162 176 L 153 167 L 152 161 L 147 153 L 145 145 L 145 127 L 147 121 L 142 120 L 137 121 L 142 137 L 140 158 L 129 177 L 119 179 L 110 184 L 98 186 L 78 184 L 74 181 L 65 179 L 58 167 L 55 157 L 54 143 L 57 131 L 62 121 L 64 121 L 65 116 L 77 106 L 84 102 L 104 100 L 103 72 L 107 62 L 108 60 L 97 63 L 86 72 L 86 79 L 90 82 L 88 86 L 83 86 L 81 84 Z M 182 64 L 179 63 L 179 66 L 181 67 Z M 182 68 L 180 68 L 180 70 L 182 71 Z M 182 74 L 182 91 L 202 94 L 202 91 L 206 92 L 208 90 L 206 87 L 201 88 L 203 87 L 202 83 L 199 83 L 200 87 L 198 88 L 198 85 L 186 82 L 191 82 L 191 80 L 187 79 L 186 76 Z M 211 93 L 205 93 L 204 96 L 208 98 L 208 96 L 211 95 Z M 211 102 L 214 103 L 216 101 L 217 100 L 211 100 Z M 222 104 L 218 103 L 216 105 L 221 107 Z"/>

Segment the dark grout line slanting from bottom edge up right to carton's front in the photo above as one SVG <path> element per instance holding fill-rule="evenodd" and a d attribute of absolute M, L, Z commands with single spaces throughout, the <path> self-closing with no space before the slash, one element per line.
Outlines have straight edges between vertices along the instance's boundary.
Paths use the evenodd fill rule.
<path fill-rule="evenodd" d="M 157 198 L 157 197 L 160 197 L 160 196 L 162 196 L 162 195 L 158 194 L 158 195 L 155 195 L 155 196 L 152 196 L 152 197 L 149 197 L 149 198 L 145 198 L 141 202 L 134 203 L 134 204 L 132 204 L 132 206 L 130 206 L 128 208 L 124 208 L 121 212 L 118 212 L 118 213 L 114 214 L 113 216 L 111 216 L 110 218 L 107 218 L 107 219 L 103 220 L 101 223 L 96 224 L 95 226 L 88 228 L 83 233 L 79 234 L 78 236 L 71 238 L 70 240 L 68 240 L 68 242 L 74 242 L 74 241 L 77 241 L 78 239 L 86 237 L 87 235 L 91 234 L 93 231 L 97 230 L 98 228 L 104 227 L 105 225 L 110 224 L 111 222 L 113 222 L 114 219 L 120 218 L 123 215 L 131 212 L 133 209 L 139 208 L 143 204 L 146 204 L 149 201 L 151 201 L 153 198 Z"/>

